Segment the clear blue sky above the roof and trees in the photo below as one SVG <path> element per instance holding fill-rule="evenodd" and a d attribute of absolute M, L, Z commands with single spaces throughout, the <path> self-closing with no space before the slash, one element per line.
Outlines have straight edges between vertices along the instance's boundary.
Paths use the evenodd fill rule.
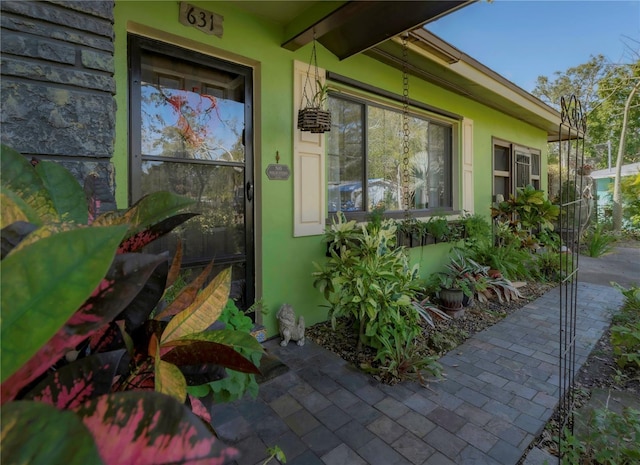
<path fill-rule="evenodd" d="M 528 92 L 592 55 L 640 59 L 640 0 L 479 0 L 425 27 Z"/>

